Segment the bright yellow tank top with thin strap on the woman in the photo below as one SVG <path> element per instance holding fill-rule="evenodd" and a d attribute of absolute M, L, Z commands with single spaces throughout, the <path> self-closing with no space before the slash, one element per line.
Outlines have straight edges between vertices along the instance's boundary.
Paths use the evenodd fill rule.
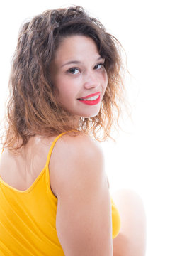
<path fill-rule="evenodd" d="M 0 177 L 0 255 L 63 256 L 56 230 L 57 198 L 50 188 L 49 162 L 52 142 L 44 169 L 26 191 L 9 186 Z M 113 199 L 113 238 L 120 230 L 120 216 Z"/>

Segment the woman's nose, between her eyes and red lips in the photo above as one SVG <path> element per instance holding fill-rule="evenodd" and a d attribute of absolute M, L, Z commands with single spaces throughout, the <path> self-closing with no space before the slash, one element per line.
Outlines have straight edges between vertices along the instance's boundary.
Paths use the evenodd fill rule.
<path fill-rule="evenodd" d="M 100 80 L 94 71 L 87 71 L 84 78 L 84 87 L 86 89 L 99 87 Z"/>

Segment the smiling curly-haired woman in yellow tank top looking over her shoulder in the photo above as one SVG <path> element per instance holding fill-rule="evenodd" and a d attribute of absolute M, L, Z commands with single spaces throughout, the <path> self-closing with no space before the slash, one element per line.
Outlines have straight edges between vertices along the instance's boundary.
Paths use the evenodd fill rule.
<path fill-rule="evenodd" d="M 21 28 L 0 164 L 1 255 L 113 255 L 120 215 L 95 139 L 111 137 L 120 112 L 118 46 L 81 6 Z"/>

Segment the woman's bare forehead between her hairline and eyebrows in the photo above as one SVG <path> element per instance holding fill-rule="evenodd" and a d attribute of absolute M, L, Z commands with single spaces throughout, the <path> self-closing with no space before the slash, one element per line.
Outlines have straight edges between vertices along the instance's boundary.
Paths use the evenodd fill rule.
<path fill-rule="evenodd" d="M 55 52 L 55 61 L 63 62 L 72 58 L 98 58 L 95 41 L 88 36 L 68 36 Z"/>

